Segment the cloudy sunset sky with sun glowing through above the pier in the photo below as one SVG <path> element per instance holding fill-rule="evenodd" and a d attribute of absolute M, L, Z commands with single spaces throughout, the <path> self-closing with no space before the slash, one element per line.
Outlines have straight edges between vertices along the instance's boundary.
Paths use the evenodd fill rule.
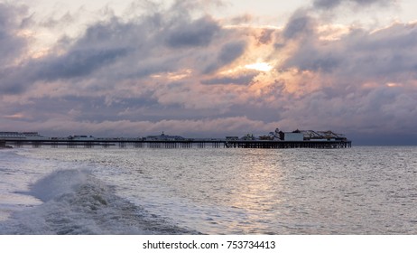
<path fill-rule="evenodd" d="M 417 2 L 3 1 L 0 131 L 417 145 Z"/>

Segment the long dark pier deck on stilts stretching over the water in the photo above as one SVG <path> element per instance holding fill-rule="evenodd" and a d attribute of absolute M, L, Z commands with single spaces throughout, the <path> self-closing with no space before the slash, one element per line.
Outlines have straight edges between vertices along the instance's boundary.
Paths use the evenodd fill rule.
<path fill-rule="evenodd" d="M 352 142 L 349 140 L 304 140 L 304 141 L 282 141 L 282 140 L 144 140 L 139 139 L 92 139 L 92 140 L 70 140 L 70 139 L 13 139 L 3 141 L 5 145 L 14 147 L 32 146 L 39 148 L 50 146 L 57 148 L 92 148 L 92 147 L 118 147 L 118 148 L 349 148 Z"/>

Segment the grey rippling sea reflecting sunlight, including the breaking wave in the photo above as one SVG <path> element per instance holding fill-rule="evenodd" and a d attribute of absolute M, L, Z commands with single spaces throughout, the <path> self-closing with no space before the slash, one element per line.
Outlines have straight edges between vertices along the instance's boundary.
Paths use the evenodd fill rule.
<path fill-rule="evenodd" d="M 3 149 L 0 234 L 417 234 L 417 147 Z"/>

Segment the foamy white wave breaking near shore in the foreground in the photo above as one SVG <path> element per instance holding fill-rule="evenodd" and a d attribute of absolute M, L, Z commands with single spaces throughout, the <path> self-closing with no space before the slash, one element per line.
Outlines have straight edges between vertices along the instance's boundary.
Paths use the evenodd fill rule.
<path fill-rule="evenodd" d="M 28 194 L 43 201 L 0 223 L 1 234 L 196 234 L 116 195 L 88 171 L 60 170 Z"/>

